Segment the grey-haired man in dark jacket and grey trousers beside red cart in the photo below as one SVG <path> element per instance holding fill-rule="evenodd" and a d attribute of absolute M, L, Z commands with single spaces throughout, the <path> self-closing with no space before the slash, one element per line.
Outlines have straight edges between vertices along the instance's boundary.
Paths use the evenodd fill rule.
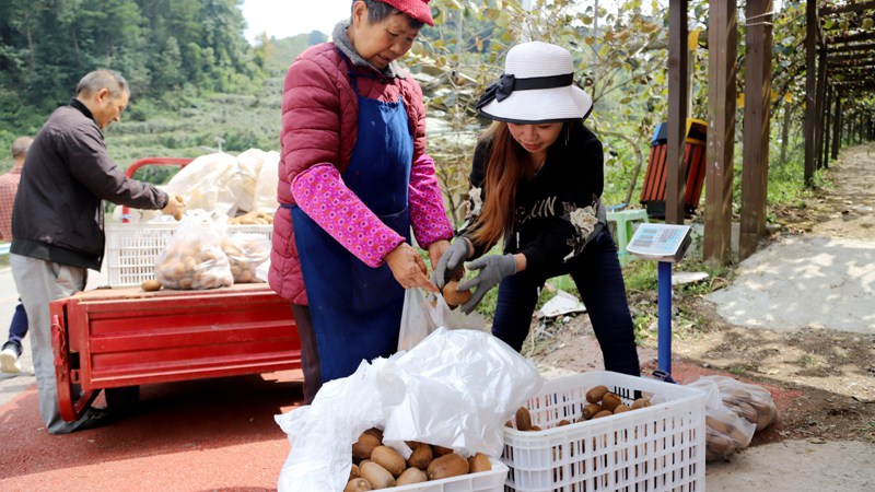
<path fill-rule="evenodd" d="M 56 109 L 34 139 L 15 196 L 10 265 L 30 318 L 39 413 L 50 434 L 108 420 L 105 410 L 94 408 L 75 422 L 61 419 L 49 319 L 49 302 L 84 290 L 88 269 L 101 269 L 102 201 L 177 216 L 184 210 L 179 197 L 129 179 L 106 153 L 102 130 L 120 119 L 129 96 L 117 72 L 95 70 L 82 78 L 75 97 Z"/>

